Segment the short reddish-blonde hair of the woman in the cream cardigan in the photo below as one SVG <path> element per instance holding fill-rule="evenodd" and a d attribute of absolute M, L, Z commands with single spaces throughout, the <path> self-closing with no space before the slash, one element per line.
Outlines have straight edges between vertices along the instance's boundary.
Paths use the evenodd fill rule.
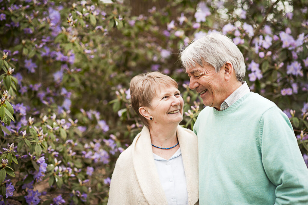
<path fill-rule="evenodd" d="M 149 127 L 148 121 L 139 113 L 139 107 L 151 107 L 152 99 L 157 94 L 156 90 L 160 89 L 161 86 L 178 88 L 175 80 L 160 72 L 139 74 L 133 77 L 130 82 L 131 106 L 147 127 Z"/>

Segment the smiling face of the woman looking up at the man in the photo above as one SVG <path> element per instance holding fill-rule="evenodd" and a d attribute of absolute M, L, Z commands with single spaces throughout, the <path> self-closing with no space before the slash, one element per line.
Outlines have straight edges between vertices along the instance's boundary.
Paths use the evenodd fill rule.
<path fill-rule="evenodd" d="M 183 120 L 184 101 L 174 86 L 160 87 L 152 99 L 149 112 L 153 121 L 160 124 L 180 123 Z"/>

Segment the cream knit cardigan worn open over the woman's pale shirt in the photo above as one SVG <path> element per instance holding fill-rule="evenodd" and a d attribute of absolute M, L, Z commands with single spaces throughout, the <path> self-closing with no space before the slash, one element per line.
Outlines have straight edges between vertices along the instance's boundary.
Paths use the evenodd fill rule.
<path fill-rule="evenodd" d="M 176 132 L 186 175 L 188 204 L 199 204 L 197 136 L 180 126 Z M 168 205 L 154 162 L 150 132 L 145 126 L 115 164 L 108 204 Z"/>

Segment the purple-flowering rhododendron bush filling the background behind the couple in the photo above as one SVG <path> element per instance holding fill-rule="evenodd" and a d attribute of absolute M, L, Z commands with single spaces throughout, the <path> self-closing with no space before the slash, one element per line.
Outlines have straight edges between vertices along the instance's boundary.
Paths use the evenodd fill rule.
<path fill-rule="evenodd" d="M 307 0 L 148 1 L 138 13 L 139 1 L 0 0 L 0 204 L 107 203 L 142 128 L 130 79 L 172 76 L 192 128 L 204 106 L 178 53 L 208 32 L 239 47 L 244 80 L 289 116 L 308 166 Z"/>

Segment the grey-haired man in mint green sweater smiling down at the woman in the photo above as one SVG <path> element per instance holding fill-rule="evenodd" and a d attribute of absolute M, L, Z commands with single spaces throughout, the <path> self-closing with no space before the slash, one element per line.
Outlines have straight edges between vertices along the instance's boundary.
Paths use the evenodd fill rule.
<path fill-rule="evenodd" d="M 308 170 L 288 117 L 250 92 L 244 58 L 221 33 L 200 38 L 181 61 L 206 106 L 193 127 L 200 204 L 308 204 Z"/>

